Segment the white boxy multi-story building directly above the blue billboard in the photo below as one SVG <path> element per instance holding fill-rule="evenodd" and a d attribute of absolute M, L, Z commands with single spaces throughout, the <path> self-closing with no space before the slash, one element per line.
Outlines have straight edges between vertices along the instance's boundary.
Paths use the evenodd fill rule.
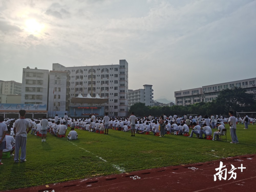
<path fill-rule="evenodd" d="M 48 104 L 49 70 L 23 68 L 21 103 Z"/>

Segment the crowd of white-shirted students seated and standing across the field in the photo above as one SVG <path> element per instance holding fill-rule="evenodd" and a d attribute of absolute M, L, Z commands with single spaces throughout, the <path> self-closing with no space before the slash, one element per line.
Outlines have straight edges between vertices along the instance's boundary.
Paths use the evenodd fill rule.
<path fill-rule="evenodd" d="M 235 118 L 232 111 L 230 111 L 229 115 L 230 117 L 223 117 L 222 115 L 220 117 L 218 115 L 208 117 L 207 115 L 201 116 L 199 114 L 198 116 L 187 117 L 186 115 L 177 116 L 174 114 L 173 116 L 169 115 L 167 117 L 163 114 L 160 117 L 153 117 L 150 114 L 148 117 L 141 118 L 136 117 L 134 112 L 132 112 L 129 117 L 109 117 L 108 113 L 105 113 L 104 117 L 96 118 L 91 114 L 89 118 L 80 119 L 68 118 L 66 114 L 63 118 L 59 118 L 57 114 L 54 118 L 46 118 L 44 115 L 42 119 L 26 119 L 26 121 L 24 121 L 25 124 L 24 122 L 22 124 L 22 134 L 19 129 L 16 130 L 16 127 L 19 127 L 20 119 L 25 119 L 25 112 L 21 114 L 22 118 L 18 120 L 4 119 L 3 116 L 0 115 L 0 165 L 2 165 L 2 152 L 10 152 L 10 156 L 13 156 L 14 151 L 17 150 L 18 153 L 19 148 L 25 145 L 26 141 L 23 141 L 24 137 L 27 137 L 25 132 L 29 133 L 31 130 L 30 134 L 41 134 L 41 141 L 45 142 L 47 132 L 54 136 L 66 136 L 68 126 L 71 127 L 71 131 L 67 134 L 69 140 L 76 140 L 78 138 L 78 134 L 74 129 L 96 133 L 105 131 L 105 135 L 108 135 L 109 129 L 115 129 L 123 132 L 131 131 L 131 136 L 135 136 L 135 133 L 143 134 L 152 132 L 154 135 L 164 137 L 165 134 L 176 133 L 177 135 L 188 135 L 189 138 L 193 137 L 195 134 L 197 138 L 202 139 L 207 136 L 212 136 L 213 134 L 212 140 L 215 141 L 215 138 L 219 139 L 219 135 L 222 134 L 225 125 L 229 124 L 232 140 L 230 143 L 239 143 L 236 136 L 236 124 L 242 123 L 245 125 L 244 129 L 248 129 L 248 125 L 250 123 L 254 124 L 256 118 L 249 118 L 247 115 L 244 115 L 243 118 Z M 218 130 L 212 132 L 214 128 L 218 128 Z M 192 129 L 190 134 L 189 129 Z M 24 130 L 26 131 L 24 132 Z M 16 135 L 18 135 L 18 137 L 16 137 Z M 203 135 L 205 135 L 205 137 L 203 137 Z M 15 146 L 18 146 L 18 149 L 15 150 Z M 26 161 L 24 156 L 24 151 L 22 151 L 20 157 L 21 162 Z M 15 161 L 18 161 L 18 155 L 15 157 Z"/>

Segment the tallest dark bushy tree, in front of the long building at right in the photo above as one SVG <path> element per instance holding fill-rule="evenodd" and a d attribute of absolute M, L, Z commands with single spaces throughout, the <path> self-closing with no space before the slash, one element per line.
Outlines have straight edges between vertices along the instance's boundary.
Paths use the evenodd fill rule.
<path fill-rule="evenodd" d="M 229 110 L 236 112 L 251 111 L 255 106 L 254 95 L 246 93 L 245 89 L 224 89 L 218 95 L 214 109 L 219 113 L 228 114 Z"/>

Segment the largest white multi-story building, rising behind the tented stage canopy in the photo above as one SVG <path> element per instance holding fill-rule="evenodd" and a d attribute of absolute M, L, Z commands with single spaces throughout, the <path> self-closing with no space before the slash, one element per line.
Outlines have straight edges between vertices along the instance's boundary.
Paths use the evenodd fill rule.
<path fill-rule="evenodd" d="M 120 60 L 119 65 L 99 65 L 65 67 L 59 63 L 52 64 L 53 71 L 66 71 L 69 80 L 69 97 L 77 97 L 79 93 L 86 97 L 95 97 L 98 93 L 102 98 L 109 98 L 104 106 L 110 116 L 128 115 L 128 63 Z M 68 106 L 79 106 L 70 103 Z M 84 105 L 86 105 L 84 103 Z"/>

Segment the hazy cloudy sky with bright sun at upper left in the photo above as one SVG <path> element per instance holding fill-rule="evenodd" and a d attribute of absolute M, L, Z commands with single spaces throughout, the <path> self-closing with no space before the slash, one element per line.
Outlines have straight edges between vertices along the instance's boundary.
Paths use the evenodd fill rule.
<path fill-rule="evenodd" d="M 2 0 L 0 80 L 29 66 L 129 63 L 129 89 L 174 91 L 256 77 L 253 0 Z"/>

